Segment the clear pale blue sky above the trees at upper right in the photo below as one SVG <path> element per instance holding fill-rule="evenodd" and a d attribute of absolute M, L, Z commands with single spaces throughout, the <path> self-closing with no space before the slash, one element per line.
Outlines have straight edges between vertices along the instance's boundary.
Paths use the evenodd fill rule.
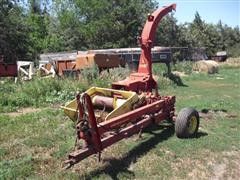
<path fill-rule="evenodd" d="M 174 17 L 178 23 L 192 22 L 196 11 L 207 23 L 219 20 L 231 27 L 240 27 L 240 0 L 157 0 L 159 7 L 177 4 Z"/>

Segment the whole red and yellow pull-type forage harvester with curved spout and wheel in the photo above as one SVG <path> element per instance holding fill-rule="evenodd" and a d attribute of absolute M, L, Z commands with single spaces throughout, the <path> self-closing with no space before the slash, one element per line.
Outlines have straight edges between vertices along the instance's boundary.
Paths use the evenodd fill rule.
<path fill-rule="evenodd" d="M 185 108 L 175 118 L 175 96 L 160 96 L 152 75 L 151 48 L 157 25 L 175 8 L 171 4 L 148 15 L 139 38 L 142 51 L 137 73 L 113 83 L 112 89 L 92 87 L 63 107 L 76 123 L 77 134 L 75 151 L 65 161 L 67 167 L 96 153 L 100 159 L 105 148 L 163 120 L 175 123 L 179 138 L 196 135 L 198 112 Z"/>

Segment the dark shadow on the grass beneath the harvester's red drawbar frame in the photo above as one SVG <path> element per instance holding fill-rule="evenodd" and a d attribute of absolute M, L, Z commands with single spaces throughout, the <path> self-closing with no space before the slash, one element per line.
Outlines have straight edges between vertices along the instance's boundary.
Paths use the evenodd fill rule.
<path fill-rule="evenodd" d="M 154 132 L 156 130 L 160 130 L 160 132 Z M 127 178 L 134 178 L 134 172 L 130 171 L 128 167 L 131 163 L 135 163 L 138 158 L 146 154 L 149 150 L 154 148 L 158 143 L 167 140 L 174 134 L 173 126 L 163 126 L 156 125 L 150 128 L 147 128 L 144 132 L 150 133 L 153 136 L 148 140 L 139 143 L 135 148 L 131 149 L 123 158 L 121 159 L 104 159 L 104 161 L 108 161 L 108 164 L 101 169 L 96 169 L 92 171 L 87 179 L 92 179 L 92 177 L 98 177 L 101 174 L 107 174 L 111 177 L 111 179 L 119 179 L 118 175 L 123 173 Z"/>

